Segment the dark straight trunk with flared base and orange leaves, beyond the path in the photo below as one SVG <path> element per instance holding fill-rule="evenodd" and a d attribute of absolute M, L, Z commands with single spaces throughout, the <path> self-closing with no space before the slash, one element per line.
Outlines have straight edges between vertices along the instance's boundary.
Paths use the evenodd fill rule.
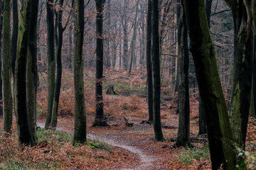
<path fill-rule="evenodd" d="M 96 16 L 96 86 L 95 86 L 95 121 L 92 126 L 107 126 L 104 120 L 104 103 L 102 96 L 102 81 L 103 81 L 103 8 L 105 0 L 95 0 L 97 16 Z"/>

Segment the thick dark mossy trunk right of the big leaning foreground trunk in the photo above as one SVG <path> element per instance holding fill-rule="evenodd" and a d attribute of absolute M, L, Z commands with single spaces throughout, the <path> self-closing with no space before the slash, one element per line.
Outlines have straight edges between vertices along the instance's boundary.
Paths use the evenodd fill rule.
<path fill-rule="evenodd" d="M 245 149 L 252 86 L 252 14 L 249 1 L 225 1 L 232 10 L 234 23 L 231 128 L 235 146 Z"/>

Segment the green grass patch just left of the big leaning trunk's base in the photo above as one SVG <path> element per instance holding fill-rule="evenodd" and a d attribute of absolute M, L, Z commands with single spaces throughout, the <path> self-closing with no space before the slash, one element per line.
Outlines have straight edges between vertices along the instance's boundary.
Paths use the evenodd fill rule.
<path fill-rule="evenodd" d="M 210 151 L 208 145 L 193 149 L 183 149 L 181 154 L 178 155 L 178 160 L 183 164 L 193 164 L 193 160 L 206 160 L 210 159 Z"/>

